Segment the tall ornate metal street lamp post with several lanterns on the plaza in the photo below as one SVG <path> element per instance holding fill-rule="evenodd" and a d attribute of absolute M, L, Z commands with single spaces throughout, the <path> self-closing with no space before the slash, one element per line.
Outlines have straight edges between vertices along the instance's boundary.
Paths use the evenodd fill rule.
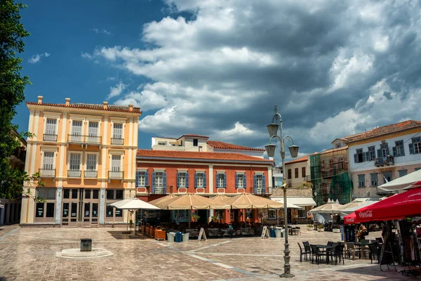
<path fill-rule="evenodd" d="M 278 110 L 278 105 L 275 105 L 275 114 L 274 117 L 272 117 L 272 124 L 267 125 L 267 131 L 269 132 L 269 145 L 265 145 L 267 156 L 274 157 L 276 145 L 271 144 L 272 138 L 279 138 L 279 141 L 281 141 L 281 159 L 282 159 L 282 190 L 283 190 L 283 228 L 284 228 L 284 237 L 285 237 L 285 249 L 283 253 L 285 254 L 283 256 L 283 274 L 280 275 L 280 277 L 294 277 L 294 275 L 291 273 L 291 266 L 290 266 L 290 251 L 289 251 L 289 245 L 288 245 L 288 210 L 287 210 L 287 204 L 286 204 L 286 170 L 285 170 L 285 162 L 283 159 L 285 158 L 285 139 L 288 138 L 290 141 L 292 141 L 293 145 L 289 147 L 290 155 L 295 158 L 298 155 L 298 145 L 294 145 L 294 140 L 290 136 L 285 136 L 282 138 L 282 117 Z M 279 125 L 275 123 L 275 121 L 279 122 Z M 279 135 L 278 135 L 278 128 L 279 128 Z"/>

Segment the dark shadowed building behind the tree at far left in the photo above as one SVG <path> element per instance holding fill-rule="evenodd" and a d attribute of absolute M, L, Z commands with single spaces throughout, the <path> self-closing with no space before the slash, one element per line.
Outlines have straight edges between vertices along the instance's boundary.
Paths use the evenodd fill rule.
<path fill-rule="evenodd" d="M 12 131 L 11 133 L 16 138 L 19 138 L 20 146 L 16 148 L 13 155 L 9 158 L 9 163 L 12 169 L 23 171 L 25 169 L 27 142 L 24 138 L 19 137 L 17 131 Z M 19 222 L 21 204 L 20 195 L 16 195 L 16 200 L 0 198 L 0 226 Z"/>

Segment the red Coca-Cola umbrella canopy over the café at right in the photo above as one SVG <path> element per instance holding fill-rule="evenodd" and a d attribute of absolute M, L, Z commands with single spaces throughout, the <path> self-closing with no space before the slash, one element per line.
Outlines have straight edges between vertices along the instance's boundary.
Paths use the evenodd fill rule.
<path fill-rule="evenodd" d="M 421 215 L 421 188 L 413 188 L 355 211 L 356 220 L 392 221 Z"/>

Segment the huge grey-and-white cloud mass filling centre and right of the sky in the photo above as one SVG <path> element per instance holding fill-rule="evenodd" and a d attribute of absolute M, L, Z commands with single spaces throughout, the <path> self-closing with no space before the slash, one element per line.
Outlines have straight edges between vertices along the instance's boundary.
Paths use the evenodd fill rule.
<path fill-rule="evenodd" d="M 91 55 L 146 79 L 116 101 L 142 107 L 142 131 L 262 147 L 277 103 L 283 134 L 312 153 L 421 119 L 420 1 L 166 3 L 170 15 L 141 30 L 147 48 Z"/>

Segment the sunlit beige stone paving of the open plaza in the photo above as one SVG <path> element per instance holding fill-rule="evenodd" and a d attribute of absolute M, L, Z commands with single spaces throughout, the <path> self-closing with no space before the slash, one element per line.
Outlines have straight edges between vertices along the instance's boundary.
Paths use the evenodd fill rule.
<path fill-rule="evenodd" d="M 168 243 L 131 240 L 120 228 L 0 228 L 0 280 L 279 280 L 283 273 L 283 239 L 224 238 Z M 369 238 L 380 233 L 370 233 Z M 373 235 L 373 236 L 372 236 Z M 94 248 L 112 251 L 100 259 L 56 257 L 92 238 Z M 290 280 L 417 280 L 377 264 L 345 259 L 345 265 L 299 261 L 297 242 L 326 244 L 337 233 L 307 231 L 290 236 Z M 386 268 L 386 267 L 385 267 Z M 399 268 L 400 269 L 400 268 Z"/>

